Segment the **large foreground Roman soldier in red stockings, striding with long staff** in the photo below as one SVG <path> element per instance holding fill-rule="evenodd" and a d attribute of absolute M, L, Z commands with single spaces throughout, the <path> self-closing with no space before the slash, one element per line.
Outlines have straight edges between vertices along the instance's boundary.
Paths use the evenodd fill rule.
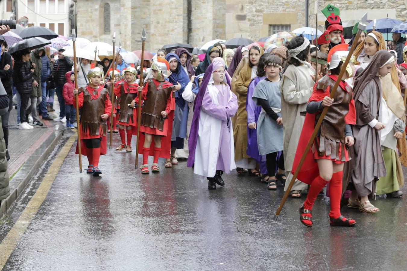
<path fill-rule="evenodd" d="M 345 50 L 344 50 L 345 49 Z M 342 176 L 344 163 L 350 160 L 348 147 L 354 144 L 352 127 L 356 123 L 356 111 L 352 98 L 352 89 L 345 82 L 353 76 L 352 56 L 346 72 L 340 78 L 340 83 L 334 98 L 330 98 L 342 65 L 348 56 L 347 45 L 335 46 L 328 55 L 330 75 L 325 75 L 314 85 L 313 93 L 306 107 L 306 117 L 302 128 L 300 141 L 294 158 L 293 172 L 299 164 L 302 154 L 321 115 L 322 109 L 329 107 L 320 130 L 307 150 L 306 160 L 298 174 L 298 180 L 310 184 L 305 202 L 300 207 L 300 221 L 307 227 L 312 227 L 311 211 L 318 193 L 329 183 L 330 225 L 353 226 L 356 221 L 347 219 L 339 210 L 342 195 Z"/>

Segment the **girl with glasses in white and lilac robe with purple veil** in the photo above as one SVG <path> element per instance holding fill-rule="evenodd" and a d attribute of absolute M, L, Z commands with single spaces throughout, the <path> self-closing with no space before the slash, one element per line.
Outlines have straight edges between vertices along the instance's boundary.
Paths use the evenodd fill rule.
<path fill-rule="evenodd" d="M 230 90 L 225 67 L 214 61 L 206 69 L 195 98 L 188 146 L 188 167 L 201 180 L 208 179 L 208 189 L 225 185 L 222 174 L 236 168 L 234 163 L 233 128 L 230 117 L 237 111 L 237 97 Z"/>

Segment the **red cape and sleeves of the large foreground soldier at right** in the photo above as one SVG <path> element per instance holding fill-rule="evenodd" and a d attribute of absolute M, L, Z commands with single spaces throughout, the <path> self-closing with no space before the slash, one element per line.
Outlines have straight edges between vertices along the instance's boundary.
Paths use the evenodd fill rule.
<path fill-rule="evenodd" d="M 329 77 L 335 81 L 338 78 L 336 75 L 329 75 Z M 313 102 L 313 101 L 319 102 L 322 99 L 324 99 L 325 96 L 330 95 L 329 87 L 327 87 L 325 91 L 322 89 L 317 89 L 317 83 L 318 82 L 316 82 L 314 85 L 314 90 L 313 90 L 312 95 L 309 98 L 308 102 Z M 346 90 L 347 85 L 348 84 L 344 81 L 341 81 L 339 83 L 339 87 L 341 87 L 343 90 Z M 339 89 L 338 89 L 338 91 L 339 91 Z M 305 115 L 305 121 L 304 121 L 304 125 L 302 126 L 300 140 L 298 141 L 297 151 L 295 152 L 293 169 L 291 171 L 293 174 L 294 174 L 295 170 L 297 169 L 298 164 L 300 163 L 302 154 L 304 153 L 306 145 L 308 144 L 308 141 L 311 138 L 311 135 L 314 131 L 315 116 L 316 116 L 316 113 L 314 113 L 314 114 L 306 113 L 306 115 Z M 346 122 L 346 124 L 356 124 L 356 110 L 355 110 L 353 98 L 352 98 L 352 100 L 350 100 L 349 112 L 345 116 L 345 122 Z M 311 145 L 311 147 L 312 147 L 312 145 Z M 306 154 L 306 158 L 304 160 L 304 164 L 302 164 L 300 172 L 298 173 L 297 179 L 306 184 L 311 184 L 312 181 L 318 175 L 319 175 L 318 164 L 316 163 L 316 161 L 314 159 L 314 154 L 313 154 L 311 148 L 309 148 L 309 150 L 307 151 L 307 154 Z"/>

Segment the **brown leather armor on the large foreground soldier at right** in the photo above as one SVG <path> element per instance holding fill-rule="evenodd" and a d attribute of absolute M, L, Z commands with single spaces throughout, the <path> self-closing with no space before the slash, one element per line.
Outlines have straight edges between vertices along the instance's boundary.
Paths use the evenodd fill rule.
<path fill-rule="evenodd" d="M 322 77 L 317 83 L 317 89 L 326 90 L 329 87 L 333 89 L 335 81 L 329 76 Z M 349 91 L 349 92 L 348 92 Z M 345 142 L 345 117 L 349 112 L 349 103 L 352 100 L 352 89 L 348 86 L 347 91 L 338 86 L 332 106 L 326 112 L 322 121 L 320 136 L 332 139 L 335 141 Z M 319 119 L 321 113 L 318 113 L 316 120 Z"/>

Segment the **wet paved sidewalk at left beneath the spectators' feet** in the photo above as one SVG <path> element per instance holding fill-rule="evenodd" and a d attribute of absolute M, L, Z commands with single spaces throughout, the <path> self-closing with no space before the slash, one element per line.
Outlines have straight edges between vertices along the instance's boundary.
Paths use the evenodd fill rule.
<path fill-rule="evenodd" d="M 49 115 L 57 117 L 58 102 L 54 103 L 55 112 Z M 72 133 L 65 123 L 42 120 L 44 126 L 34 126 L 31 130 L 20 130 L 17 124 L 17 110 L 13 107 L 9 118 L 9 154 L 8 173 L 10 178 L 10 196 L 1 202 L 0 217 L 24 190 L 26 184 L 35 175 L 42 162 L 61 139 L 64 130 Z"/>

